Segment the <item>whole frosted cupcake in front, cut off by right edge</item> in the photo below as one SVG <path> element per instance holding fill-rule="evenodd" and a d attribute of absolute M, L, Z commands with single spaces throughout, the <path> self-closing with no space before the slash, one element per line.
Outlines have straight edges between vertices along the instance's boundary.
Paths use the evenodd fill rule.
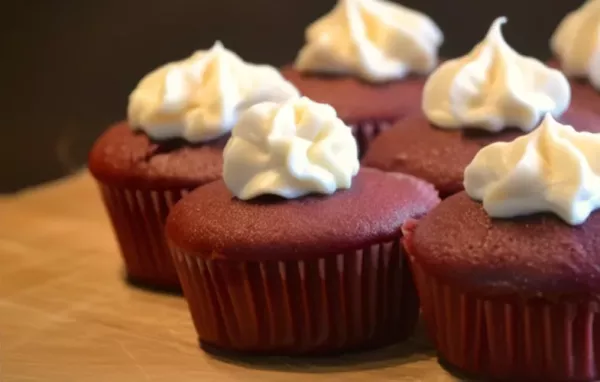
<path fill-rule="evenodd" d="M 465 191 L 405 225 L 423 318 L 483 380 L 600 378 L 600 135 L 550 114 L 482 149 Z"/>

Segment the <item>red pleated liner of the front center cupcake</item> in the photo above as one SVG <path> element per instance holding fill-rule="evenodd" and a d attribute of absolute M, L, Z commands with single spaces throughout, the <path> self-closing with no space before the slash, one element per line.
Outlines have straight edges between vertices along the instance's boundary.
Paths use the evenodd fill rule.
<path fill-rule="evenodd" d="M 274 355 L 405 339 L 419 307 L 399 240 L 307 261 L 206 260 L 173 249 L 201 344 Z M 209 256 L 210 255 L 210 256 Z"/>

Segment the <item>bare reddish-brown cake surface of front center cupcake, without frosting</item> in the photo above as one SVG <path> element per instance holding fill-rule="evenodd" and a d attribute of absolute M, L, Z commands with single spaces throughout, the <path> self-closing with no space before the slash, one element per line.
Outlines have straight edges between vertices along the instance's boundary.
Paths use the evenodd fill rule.
<path fill-rule="evenodd" d="M 202 256 L 309 260 L 395 240 L 405 221 L 438 202 L 428 183 L 374 169 L 360 170 L 348 190 L 297 199 L 263 195 L 244 201 L 219 180 L 173 207 L 167 235 Z"/>

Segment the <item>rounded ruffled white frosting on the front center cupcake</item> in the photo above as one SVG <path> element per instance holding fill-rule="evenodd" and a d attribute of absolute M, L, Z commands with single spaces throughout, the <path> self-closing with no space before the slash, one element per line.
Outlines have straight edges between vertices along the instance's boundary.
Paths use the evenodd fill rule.
<path fill-rule="evenodd" d="M 358 149 L 335 110 L 308 98 L 265 102 L 242 114 L 223 154 L 223 179 L 240 199 L 292 199 L 350 188 Z"/>

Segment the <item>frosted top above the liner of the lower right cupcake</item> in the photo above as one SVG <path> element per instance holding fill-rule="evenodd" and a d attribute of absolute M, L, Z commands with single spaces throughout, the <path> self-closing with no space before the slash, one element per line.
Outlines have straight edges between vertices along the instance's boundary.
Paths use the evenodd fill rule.
<path fill-rule="evenodd" d="M 466 192 L 417 224 L 410 252 L 475 292 L 596 294 L 599 150 L 600 135 L 549 114 L 534 132 L 483 148 L 465 171 Z"/>

